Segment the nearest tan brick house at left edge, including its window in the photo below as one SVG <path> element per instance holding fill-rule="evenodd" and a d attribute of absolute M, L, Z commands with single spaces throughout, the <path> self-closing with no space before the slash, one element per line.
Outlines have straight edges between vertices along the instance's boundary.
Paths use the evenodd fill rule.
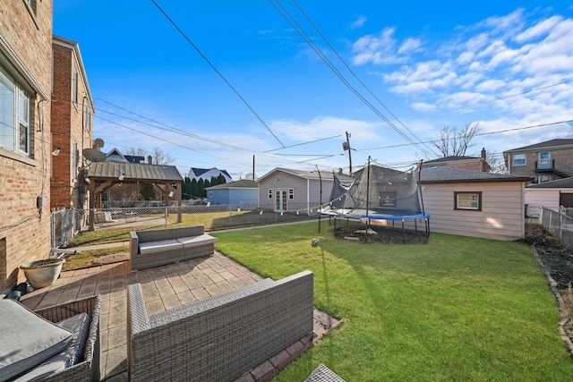
<path fill-rule="evenodd" d="M 52 5 L 4 1 L 0 11 L 0 291 L 50 254 Z"/>

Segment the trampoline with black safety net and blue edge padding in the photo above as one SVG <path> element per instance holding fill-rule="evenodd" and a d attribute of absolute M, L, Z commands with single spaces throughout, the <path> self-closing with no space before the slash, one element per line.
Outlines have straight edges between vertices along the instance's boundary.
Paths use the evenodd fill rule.
<path fill-rule="evenodd" d="M 417 232 L 417 222 L 422 220 L 427 240 L 430 235 L 430 214 L 423 209 L 421 166 L 422 163 L 419 163 L 402 172 L 372 164 L 369 158 L 367 165 L 355 174 L 354 182 L 343 183 L 335 175 L 329 202 L 318 213 L 334 218 L 335 230 L 338 218 L 365 222 L 366 232 L 370 225 L 377 225 L 377 221 L 391 221 L 392 226 L 399 221 L 402 224 L 403 242 L 406 242 L 406 222 L 413 221 Z"/>

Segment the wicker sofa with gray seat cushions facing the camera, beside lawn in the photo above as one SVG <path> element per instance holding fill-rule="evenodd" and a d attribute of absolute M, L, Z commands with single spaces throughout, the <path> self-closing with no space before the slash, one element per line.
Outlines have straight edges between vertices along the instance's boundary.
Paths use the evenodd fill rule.
<path fill-rule="evenodd" d="M 203 225 L 130 232 L 132 270 L 210 256 L 217 238 Z"/>

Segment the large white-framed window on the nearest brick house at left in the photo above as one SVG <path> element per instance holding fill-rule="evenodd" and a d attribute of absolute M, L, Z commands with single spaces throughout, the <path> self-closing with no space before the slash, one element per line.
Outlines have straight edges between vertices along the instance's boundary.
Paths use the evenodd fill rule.
<path fill-rule="evenodd" d="M 30 156 L 30 95 L 0 67 L 0 147 Z"/>

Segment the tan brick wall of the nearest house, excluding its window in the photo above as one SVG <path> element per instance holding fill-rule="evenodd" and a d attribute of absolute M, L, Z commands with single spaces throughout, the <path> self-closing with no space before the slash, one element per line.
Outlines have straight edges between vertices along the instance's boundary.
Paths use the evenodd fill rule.
<path fill-rule="evenodd" d="M 37 1 L 35 11 L 27 4 L 22 0 L 3 2 L 0 55 L 14 67 L 23 66 L 27 76 L 36 81 L 33 87 L 49 96 L 52 1 Z M 49 256 L 50 103 L 40 102 L 39 94 L 32 94 L 32 99 L 30 157 L 0 150 L 0 290 L 24 281 L 21 264 Z M 45 200 L 41 216 L 36 207 L 38 196 Z"/>

